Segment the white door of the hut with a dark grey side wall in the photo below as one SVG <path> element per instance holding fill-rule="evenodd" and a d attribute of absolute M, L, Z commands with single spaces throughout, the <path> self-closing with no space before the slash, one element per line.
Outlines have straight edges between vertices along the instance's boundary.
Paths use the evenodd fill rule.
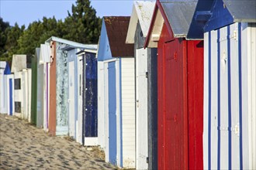
<path fill-rule="evenodd" d="M 136 168 L 147 169 L 147 49 L 136 50 Z"/>

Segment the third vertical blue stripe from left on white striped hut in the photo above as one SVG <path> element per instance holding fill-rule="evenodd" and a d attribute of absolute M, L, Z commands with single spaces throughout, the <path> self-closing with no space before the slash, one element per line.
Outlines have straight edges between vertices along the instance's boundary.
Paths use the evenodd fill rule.
<path fill-rule="evenodd" d="M 230 26 L 227 26 L 227 95 L 228 95 L 228 168 L 231 169 L 232 143 L 231 143 L 231 73 L 230 73 Z"/>

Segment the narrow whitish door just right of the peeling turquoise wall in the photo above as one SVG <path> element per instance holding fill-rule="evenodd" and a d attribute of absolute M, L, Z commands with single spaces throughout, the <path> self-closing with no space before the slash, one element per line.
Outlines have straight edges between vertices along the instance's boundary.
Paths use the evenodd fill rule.
<path fill-rule="evenodd" d="M 75 137 L 74 120 L 74 61 L 68 63 L 68 113 L 69 113 L 69 136 Z"/>

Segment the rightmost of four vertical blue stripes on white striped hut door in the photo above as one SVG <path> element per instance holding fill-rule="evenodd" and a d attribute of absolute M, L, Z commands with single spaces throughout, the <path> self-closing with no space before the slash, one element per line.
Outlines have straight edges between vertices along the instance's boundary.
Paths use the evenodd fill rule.
<path fill-rule="evenodd" d="M 242 50 L 241 23 L 238 23 L 238 69 L 239 69 L 239 140 L 240 140 L 240 169 L 243 169 L 243 105 L 242 105 Z"/>

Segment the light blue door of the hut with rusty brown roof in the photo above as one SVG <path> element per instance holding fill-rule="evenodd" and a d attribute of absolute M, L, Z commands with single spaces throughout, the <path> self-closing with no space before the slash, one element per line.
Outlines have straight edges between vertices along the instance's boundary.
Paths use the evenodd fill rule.
<path fill-rule="evenodd" d="M 109 162 L 116 165 L 116 63 L 110 62 L 109 73 Z"/>

